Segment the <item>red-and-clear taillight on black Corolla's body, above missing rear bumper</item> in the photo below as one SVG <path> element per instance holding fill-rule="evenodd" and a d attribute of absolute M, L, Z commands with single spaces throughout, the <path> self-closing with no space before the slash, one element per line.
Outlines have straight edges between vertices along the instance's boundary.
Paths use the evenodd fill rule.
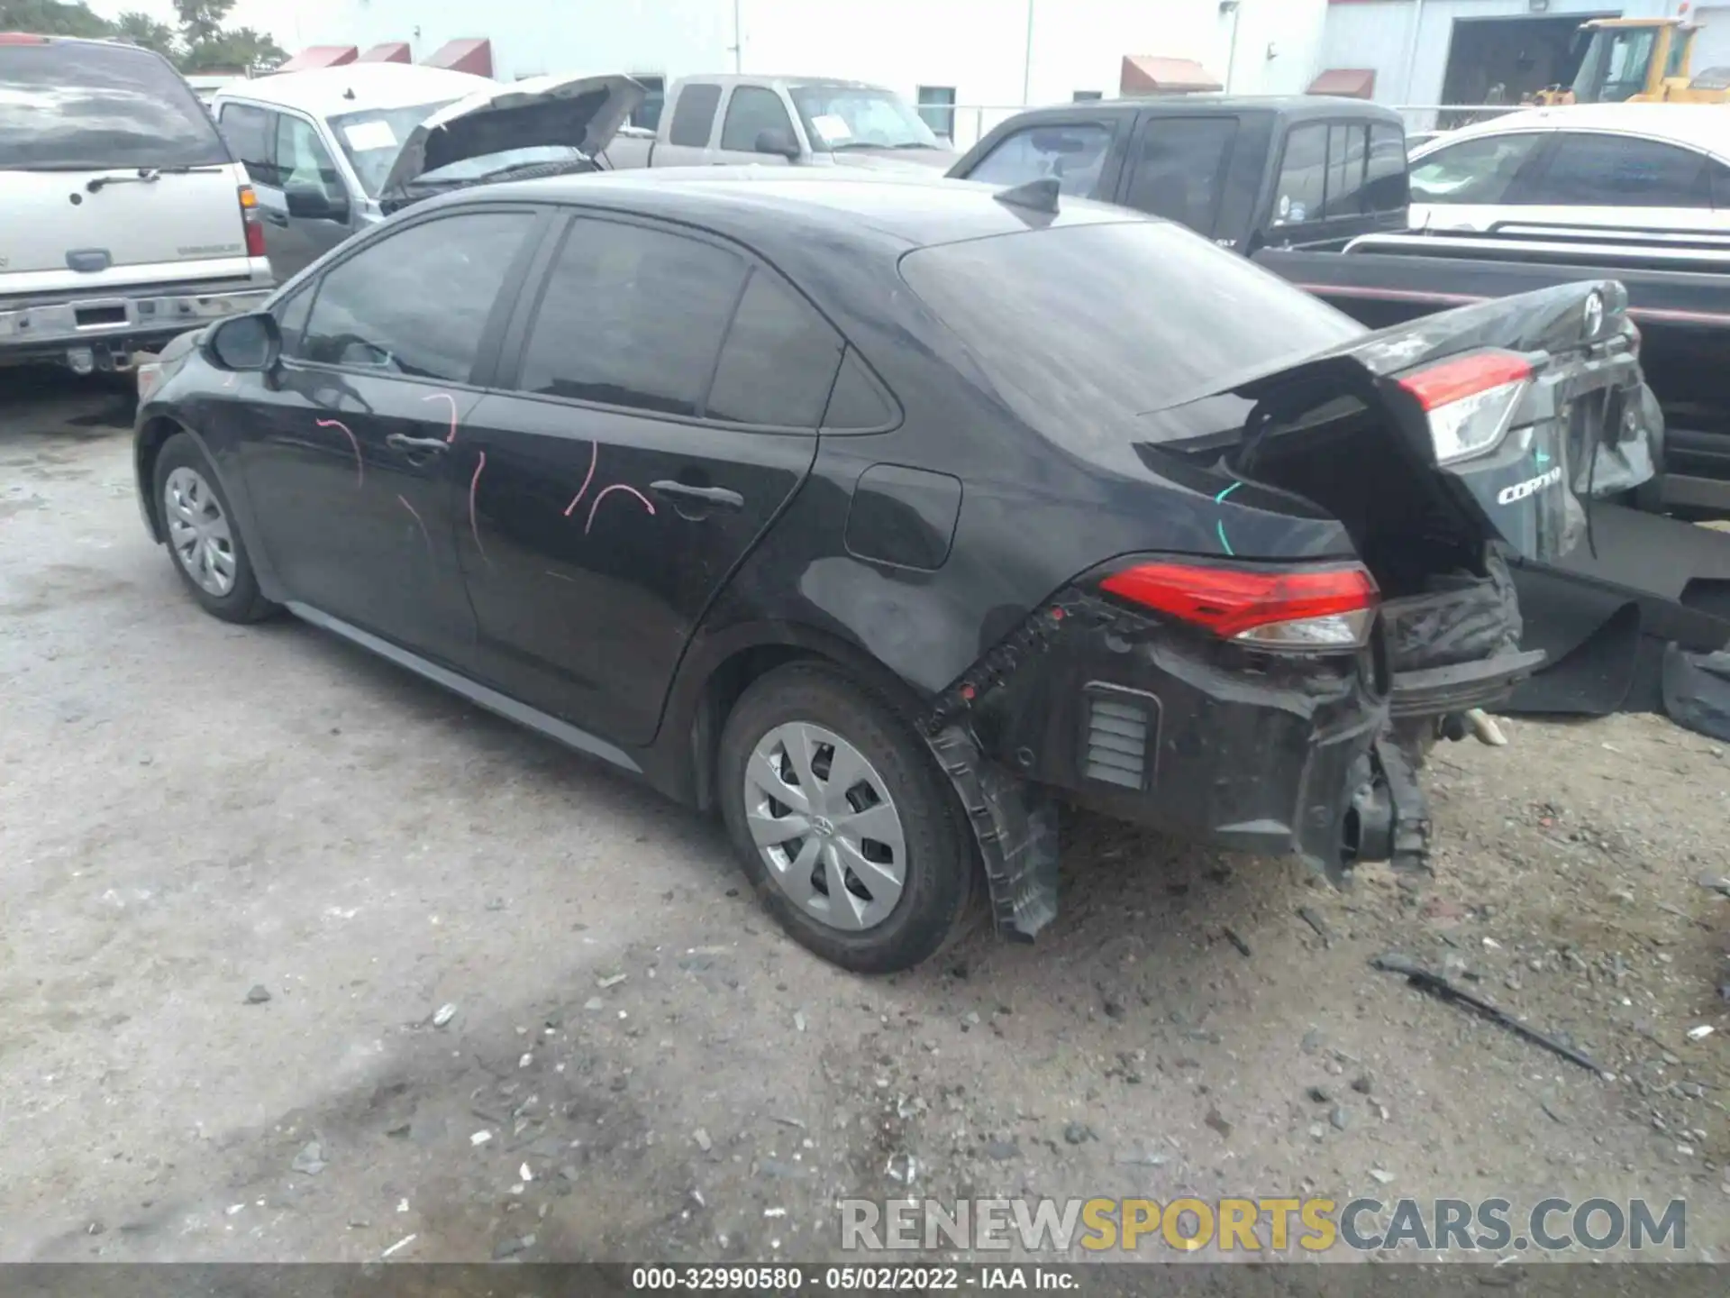
<path fill-rule="evenodd" d="M 1362 564 L 1254 569 L 1163 561 L 1124 568 L 1100 587 L 1263 649 L 1358 649 L 1375 616 L 1375 580 Z"/>

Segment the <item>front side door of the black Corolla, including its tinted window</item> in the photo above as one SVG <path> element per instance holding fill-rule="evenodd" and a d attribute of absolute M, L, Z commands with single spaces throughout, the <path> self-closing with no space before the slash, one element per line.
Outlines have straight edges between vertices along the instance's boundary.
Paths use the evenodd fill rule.
<path fill-rule="evenodd" d="M 464 417 L 536 220 L 446 209 L 363 242 L 301 294 L 304 325 L 285 313 L 282 363 L 230 407 L 289 597 L 453 666 L 474 652 L 455 550 Z"/>

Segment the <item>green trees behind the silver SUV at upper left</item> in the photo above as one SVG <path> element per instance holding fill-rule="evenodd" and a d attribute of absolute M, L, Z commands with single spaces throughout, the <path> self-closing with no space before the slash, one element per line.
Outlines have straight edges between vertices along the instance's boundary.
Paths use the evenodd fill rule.
<path fill-rule="evenodd" d="M 223 26 L 234 0 L 175 0 L 176 22 L 137 10 L 112 22 L 83 0 L 0 0 L 0 31 L 45 36 L 107 36 L 166 55 L 183 73 L 265 71 L 287 52 L 254 28 Z"/>

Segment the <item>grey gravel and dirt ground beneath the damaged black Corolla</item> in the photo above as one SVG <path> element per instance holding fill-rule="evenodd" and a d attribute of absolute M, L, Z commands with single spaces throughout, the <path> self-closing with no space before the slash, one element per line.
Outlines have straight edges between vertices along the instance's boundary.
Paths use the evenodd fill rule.
<path fill-rule="evenodd" d="M 908 1177 L 1685 1198 L 1687 1256 L 1730 1244 L 1711 741 L 1445 746 L 1417 890 L 1078 817 L 1035 947 L 858 980 L 709 820 L 308 627 L 199 614 L 125 393 L 7 384 L 0 1260 L 818 1260 L 837 1196 Z"/>

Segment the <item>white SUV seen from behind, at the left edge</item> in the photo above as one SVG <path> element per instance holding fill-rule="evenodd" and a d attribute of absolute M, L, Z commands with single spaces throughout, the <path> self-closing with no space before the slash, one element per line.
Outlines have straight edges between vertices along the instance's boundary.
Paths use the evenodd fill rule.
<path fill-rule="evenodd" d="M 0 33 L 0 367 L 125 367 L 272 289 L 256 199 L 166 59 Z"/>

